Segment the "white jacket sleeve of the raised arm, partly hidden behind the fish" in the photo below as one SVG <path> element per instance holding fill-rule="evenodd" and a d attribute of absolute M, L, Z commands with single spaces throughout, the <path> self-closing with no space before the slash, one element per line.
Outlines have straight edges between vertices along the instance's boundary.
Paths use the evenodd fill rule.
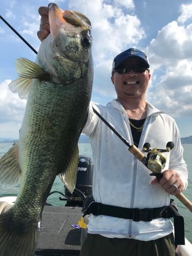
<path fill-rule="evenodd" d="M 91 102 L 89 105 L 88 119 L 87 119 L 86 125 L 83 127 L 83 130 L 82 130 L 82 133 L 86 134 L 89 137 L 91 137 L 92 134 L 94 133 L 99 121 L 98 116 L 93 112 L 92 106 L 97 110 L 97 112 L 100 113 L 97 105 Z"/>

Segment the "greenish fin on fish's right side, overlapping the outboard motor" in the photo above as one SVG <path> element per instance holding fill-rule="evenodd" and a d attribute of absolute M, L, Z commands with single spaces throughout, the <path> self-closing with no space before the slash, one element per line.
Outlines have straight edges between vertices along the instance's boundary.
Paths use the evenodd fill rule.
<path fill-rule="evenodd" d="M 76 146 L 68 168 L 60 173 L 58 176 L 61 181 L 65 184 L 70 193 L 73 193 L 77 179 L 77 167 L 79 162 L 79 150 L 78 145 Z"/>

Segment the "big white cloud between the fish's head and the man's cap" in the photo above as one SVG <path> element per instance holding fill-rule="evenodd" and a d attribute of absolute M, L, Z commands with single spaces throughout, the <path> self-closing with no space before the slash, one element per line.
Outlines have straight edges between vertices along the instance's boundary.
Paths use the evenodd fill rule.
<path fill-rule="evenodd" d="M 125 1 L 122 3 L 124 5 Z M 131 3 L 132 1 L 127 2 L 128 6 Z M 70 1 L 69 8 L 84 13 L 91 20 L 95 61 L 109 59 L 109 56 L 114 58 L 122 49 L 136 45 L 145 36 L 140 20 L 127 11 L 124 13 L 122 5 L 112 6 L 102 0 L 73 0 Z"/>

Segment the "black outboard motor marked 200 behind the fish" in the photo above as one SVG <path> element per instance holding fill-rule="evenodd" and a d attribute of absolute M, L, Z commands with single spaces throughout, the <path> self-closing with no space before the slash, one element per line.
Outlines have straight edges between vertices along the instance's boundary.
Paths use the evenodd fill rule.
<path fill-rule="evenodd" d="M 82 206 L 83 197 L 92 194 L 93 163 L 89 156 L 79 156 L 76 186 L 73 194 L 66 188 L 66 206 Z"/>

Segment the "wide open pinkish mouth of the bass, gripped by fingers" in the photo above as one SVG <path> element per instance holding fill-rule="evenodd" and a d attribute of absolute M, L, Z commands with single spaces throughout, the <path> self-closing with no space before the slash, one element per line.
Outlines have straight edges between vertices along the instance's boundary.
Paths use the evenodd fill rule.
<path fill-rule="evenodd" d="M 56 30 L 55 27 L 63 27 L 66 31 L 72 31 L 72 27 L 78 28 L 81 31 L 90 30 L 91 22 L 82 13 L 60 9 L 56 4 L 51 3 L 49 8 L 49 22 L 50 27 L 53 28 L 53 33 Z"/>

